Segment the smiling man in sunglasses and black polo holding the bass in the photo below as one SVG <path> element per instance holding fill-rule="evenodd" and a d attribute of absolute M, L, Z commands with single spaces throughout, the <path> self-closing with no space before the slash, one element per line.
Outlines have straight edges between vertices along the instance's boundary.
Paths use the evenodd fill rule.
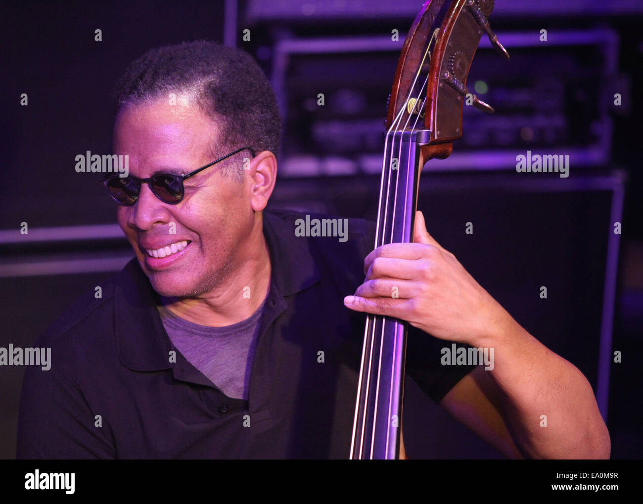
<path fill-rule="evenodd" d="M 435 402 L 510 457 L 609 455 L 583 375 L 467 276 L 421 214 L 417 243 L 378 256 L 398 272 L 378 273 L 372 224 L 351 220 L 345 242 L 296 237 L 301 214 L 265 211 L 280 119 L 249 55 L 153 49 L 117 98 L 114 153 L 130 173 L 102 183 L 136 258 L 39 341 L 52 366 L 26 370 L 19 458 L 347 458 L 362 312 L 399 316 L 372 282 L 393 275 L 422 307 L 406 368 Z M 442 272 L 430 298 L 414 256 L 427 251 Z M 440 363 L 451 339 L 494 346 L 495 330 L 511 343 L 493 370 Z M 547 429 L 542 411 L 557 420 Z"/>

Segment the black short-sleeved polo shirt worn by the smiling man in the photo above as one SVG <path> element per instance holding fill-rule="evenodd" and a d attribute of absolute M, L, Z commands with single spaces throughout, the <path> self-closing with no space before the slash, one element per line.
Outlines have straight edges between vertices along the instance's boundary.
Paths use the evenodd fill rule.
<path fill-rule="evenodd" d="M 264 212 L 272 278 L 248 401 L 172 346 L 134 258 L 33 345 L 51 347 L 51 369 L 26 368 L 17 457 L 347 458 L 365 314 L 343 298 L 363 283 L 375 226 L 350 219 L 340 242 L 296 237 L 299 218 Z M 436 402 L 472 369 L 440 365 L 450 345 L 409 331 L 406 371 Z"/>

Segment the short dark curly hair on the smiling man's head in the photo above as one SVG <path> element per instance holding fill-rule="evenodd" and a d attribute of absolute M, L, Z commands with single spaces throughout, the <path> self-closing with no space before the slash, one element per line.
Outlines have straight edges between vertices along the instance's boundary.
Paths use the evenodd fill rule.
<path fill-rule="evenodd" d="M 116 82 L 114 98 L 119 107 L 136 106 L 170 93 L 194 95 L 201 110 L 219 125 L 213 156 L 246 145 L 255 153 L 278 154 L 281 117 L 275 92 L 257 62 L 242 49 L 207 40 L 150 49 Z M 237 167 L 232 173 L 238 180 L 243 179 L 238 161 L 244 157 L 248 152 L 239 152 L 226 163 Z"/>

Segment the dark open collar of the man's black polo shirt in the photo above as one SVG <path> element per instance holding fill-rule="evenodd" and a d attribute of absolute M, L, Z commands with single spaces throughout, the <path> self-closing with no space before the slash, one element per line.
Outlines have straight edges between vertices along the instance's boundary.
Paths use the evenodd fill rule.
<path fill-rule="evenodd" d="M 285 309 L 291 296 L 320 280 L 307 240 L 294 235 L 294 224 L 263 212 L 263 232 L 271 262 L 271 287 L 266 310 Z M 170 338 L 161 322 L 158 294 L 133 258 L 119 273 L 114 289 L 116 351 L 124 366 L 136 371 L 170 368 Z M 276 314 L 273 314 L 276 317 Z M 271 318 L 273 318 L 271 316 Z"/>

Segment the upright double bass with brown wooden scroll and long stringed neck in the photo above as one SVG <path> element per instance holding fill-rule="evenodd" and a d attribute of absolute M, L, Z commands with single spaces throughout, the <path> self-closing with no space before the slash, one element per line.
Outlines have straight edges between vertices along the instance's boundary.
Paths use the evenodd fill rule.
<path fill-rule="evenodd" d="M 493 0 L 429 0 L 413 21 L 388 104 L 375 248 L 413 239 L 420 172 L 426 161 L 451 154 L 464 103 L 493 113 L 466 85 L 482 31 L 509 58 L 489 25 L 492 10 Z M 395 318 L 367 316 L 350 458 L 406 458 L 407 329 Z"/>

